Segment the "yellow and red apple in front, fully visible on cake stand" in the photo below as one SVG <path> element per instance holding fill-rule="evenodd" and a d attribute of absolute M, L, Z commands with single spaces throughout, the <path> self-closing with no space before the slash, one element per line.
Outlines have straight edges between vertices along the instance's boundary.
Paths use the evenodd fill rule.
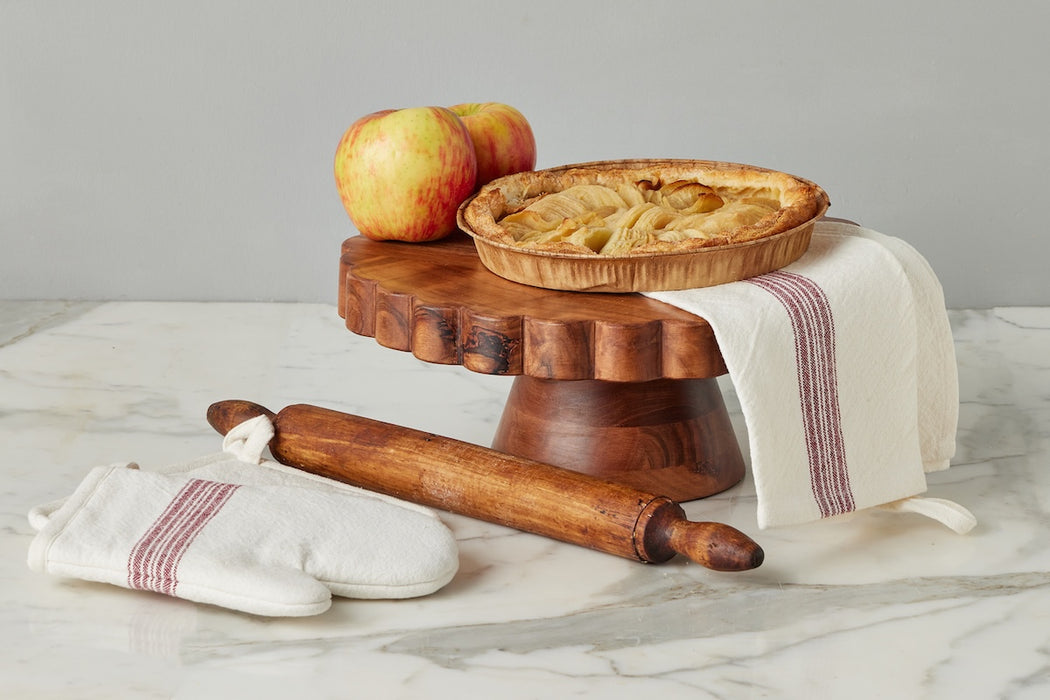
<path fill-rule="evenodd" d="M 470 133 L 445 107 L 368 114 L 351 125 L 336 148 L 339 198 L 357 230 L 375 240 L 448 235 L 477 176 Z"/>

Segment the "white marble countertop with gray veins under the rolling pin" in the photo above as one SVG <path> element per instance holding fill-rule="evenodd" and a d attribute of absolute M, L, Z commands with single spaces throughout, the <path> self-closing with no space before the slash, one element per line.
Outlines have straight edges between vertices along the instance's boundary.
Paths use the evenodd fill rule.
<path fill-rule="evenodd" d="M 929 483 L 976 515 L 967 535 L 885 512 L 759 531 L 746 480 L 685 504 L 765 550 L 717 573 L 442 513 L 461 566 L 438 593 L 274 619 L 34 573 L 26 512 L 92 466 L 215 451 L 220 399 L 486 445 L 511 380 L 380 347 L 329 305 L 0 302 L 0 696 L 1047 697 L 1050 309 L 950 317 L 959 451 Z"/>

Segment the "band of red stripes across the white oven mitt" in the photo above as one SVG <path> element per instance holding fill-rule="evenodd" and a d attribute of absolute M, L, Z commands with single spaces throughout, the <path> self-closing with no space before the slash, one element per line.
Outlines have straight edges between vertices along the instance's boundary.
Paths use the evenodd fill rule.
<path fill-rule="evenodd" d="M 183 555 L 236 490 L 236 484 L 187 482 L 131 548 L 128 588 L 175 595 Z"/>

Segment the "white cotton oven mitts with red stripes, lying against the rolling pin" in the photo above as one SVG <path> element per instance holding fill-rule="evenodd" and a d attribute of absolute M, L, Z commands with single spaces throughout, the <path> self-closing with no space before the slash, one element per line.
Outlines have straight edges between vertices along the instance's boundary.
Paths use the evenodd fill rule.
<path fill-rule="evenodd" d="M 188 464 L 91 469 L 30 511 L 29 568 L 268 616 L 452 580 L 456 539 L 433 511 L 262 460 L 272 436 L 261 416 Z"/>

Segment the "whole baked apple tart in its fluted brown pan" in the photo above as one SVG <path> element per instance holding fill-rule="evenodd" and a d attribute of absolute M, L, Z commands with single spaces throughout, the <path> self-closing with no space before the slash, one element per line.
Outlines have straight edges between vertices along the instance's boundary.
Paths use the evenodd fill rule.
<path fill-rule="evenodd" d="M 486 267 L 514 281 L 654 291 L 706 287 L 783 267 L 805 251 L 813 222 L 827 207 L 817 185 L 755 166 L 609 161 L 501 177 L 464 203 L 459 219 Z M 784 237 L 793 242 L 758 246 Z M 671 259 L 701 253 L 709 255 Z M 522 257 L 528 255 L 541 259 Z M 578 260 L 576 272 L 552 276 L 551 270 L 540 270 L 573 268 L 552 266 L 554 258 Z M 508 264 L 522 270 L 507 270 Z M 718 270 L 706 271 L 712 264 Z M 596 273 L 598 268 L 618 272 Z"/>

